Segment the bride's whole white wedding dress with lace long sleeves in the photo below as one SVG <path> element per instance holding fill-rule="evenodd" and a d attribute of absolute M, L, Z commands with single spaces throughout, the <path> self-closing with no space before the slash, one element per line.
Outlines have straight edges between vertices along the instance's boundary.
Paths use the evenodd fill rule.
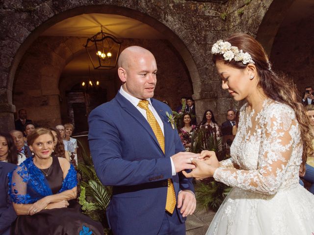
<path fill-rule="evenodd" d="M 231 158 L 214 178 L 233 187 L 207 235 L 313 235 L 314 195 L 299 185 L 302 141 L 294 111 L 266 99 L 240 110 Z M 238 169 L 236 169 L 238 168 Z"/>

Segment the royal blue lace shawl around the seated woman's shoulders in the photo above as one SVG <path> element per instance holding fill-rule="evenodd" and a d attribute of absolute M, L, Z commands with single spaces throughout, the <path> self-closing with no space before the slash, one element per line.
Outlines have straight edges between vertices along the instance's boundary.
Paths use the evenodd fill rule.
<path fill-rule="evenodd" d="M 17 204 L 31 204 L 43 197 L 52 195 L 49 183 L 41 170 L 33 163 L 33 158 L 27 158 L 8 174 L 8 193 L 12 202 Z M 72 189 L 78 184 L 77 172 L 71 164 L 58 193 Z"/>

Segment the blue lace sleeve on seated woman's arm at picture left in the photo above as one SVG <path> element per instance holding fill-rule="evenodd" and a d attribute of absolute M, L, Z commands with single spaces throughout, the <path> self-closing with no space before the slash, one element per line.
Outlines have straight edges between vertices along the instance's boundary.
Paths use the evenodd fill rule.
<path fill-rule="evenodd" d="M 17 204 L 33 203 L 33 199 L 27 194 L 28 172 L 24 164 L 17 166 L 8 174 L 9 195 L 12 202 Z"/>

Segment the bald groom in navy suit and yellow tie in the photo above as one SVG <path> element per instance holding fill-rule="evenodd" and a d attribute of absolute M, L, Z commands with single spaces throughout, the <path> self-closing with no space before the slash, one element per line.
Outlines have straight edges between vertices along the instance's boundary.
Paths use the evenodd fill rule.
<path fill-rule="evenodd" d="M 114 235 L 184 235 L 185 217 L 196 207 L 193 169 L 171 125 L 166 104 L 152 99 L 157 64 L 147 49 L 132 46 L 120 54 L 118 75 L 124 83 L 110 102 L 89 116 L 89 145 L 95 170 L 113 186 L 107 208 Z M 109 112 L 110 111 L 110 112 Z"/>

